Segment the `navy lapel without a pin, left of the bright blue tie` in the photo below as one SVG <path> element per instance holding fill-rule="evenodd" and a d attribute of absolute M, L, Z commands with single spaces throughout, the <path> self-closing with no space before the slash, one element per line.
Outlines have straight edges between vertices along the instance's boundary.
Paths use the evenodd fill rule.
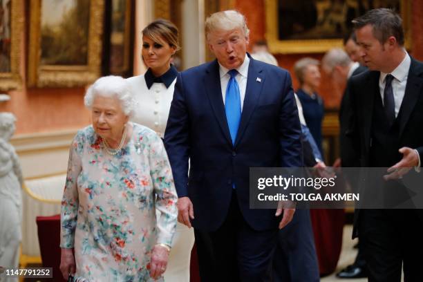
<path fill-rule="evenodd" d="M 227 126 L 225 104 L 223 104 L 222 88 L 220 86 L 219 64 L 217 60 L 209 65 L 206 72 L 207 73 L 204 78 L 204 85 L 207 97 L 209 97 L 210 104 L 212 104 L 214 115 L 216 115 L 216 119 L 218 120 L 220 128 L 223 131 L 223 135 L 225 135 L 227 142 L 229 142 L 229 144 L 232 146 L 232 139 L 229 133 L 229 127 Z"/>

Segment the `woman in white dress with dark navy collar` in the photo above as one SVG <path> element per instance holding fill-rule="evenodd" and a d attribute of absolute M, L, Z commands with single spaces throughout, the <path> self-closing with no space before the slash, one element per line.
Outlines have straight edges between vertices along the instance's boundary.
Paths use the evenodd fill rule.
<path fill-rule="evenodd" d="M 148 67 L 144 75 L 130 77 L 131 89 L 138 100 L 133 115 L 137 122 L 156 131 L 163 138 L 178 71 L 171 57 L 179 49 L 178 28 L 170 21 L 158 19 L 142 30 L 142 59 Z M 194 231 L 178 223 L 173 238 L 166 281 L 189 281 L 189 263 L 194 245 Z"/>

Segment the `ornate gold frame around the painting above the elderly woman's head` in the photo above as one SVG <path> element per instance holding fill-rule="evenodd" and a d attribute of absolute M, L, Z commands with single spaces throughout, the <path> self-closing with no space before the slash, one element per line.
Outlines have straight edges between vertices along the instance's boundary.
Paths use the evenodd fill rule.
<path fill-rule="evenodd" d="M 90 84 L 101 75 L 104 1 L 91 0 L 86 66 L 41 66 L 41 0 L 30 1 L 28 86 L 74 87 Z"/>

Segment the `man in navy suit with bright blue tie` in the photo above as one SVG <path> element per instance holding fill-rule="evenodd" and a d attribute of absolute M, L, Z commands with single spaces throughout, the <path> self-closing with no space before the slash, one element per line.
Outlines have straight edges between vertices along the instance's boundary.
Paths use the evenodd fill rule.
<path fill-rule="evenodd" d="M 290 75 L 246 53 L 239 12 L 205 26 L 216 60 L 180 73 L 164 134 L 178 219 L 194 226 L 203 282 L 270 281 L 278 226 L 294 209 L 250 209 L 250 167 L 301 167 Z"/>

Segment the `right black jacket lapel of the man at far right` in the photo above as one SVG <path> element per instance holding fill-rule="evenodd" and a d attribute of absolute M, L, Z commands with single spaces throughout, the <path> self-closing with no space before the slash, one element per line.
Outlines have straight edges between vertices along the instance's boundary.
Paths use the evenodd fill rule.
<path fill-rule="evenodd" d="M 417 68 L 417 62 L 414 59 L 411 59 L 410 70 L 408 71 L 408 78 L 406 84 L 406 90 L 404 93 L 404 98 L 402 100 L 400 113 L 398 113 L 398 119 L 400 122 L 400 136 L 404 131 L 404 128 L 410 118 L 411 112 L 414 109 L 415 103 L 417 102 L 419 95 L 421 93 L 420 89 L 423 86 L 423 78 L 418 77 L 423 70 Z"/>

